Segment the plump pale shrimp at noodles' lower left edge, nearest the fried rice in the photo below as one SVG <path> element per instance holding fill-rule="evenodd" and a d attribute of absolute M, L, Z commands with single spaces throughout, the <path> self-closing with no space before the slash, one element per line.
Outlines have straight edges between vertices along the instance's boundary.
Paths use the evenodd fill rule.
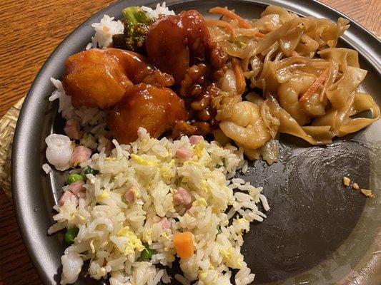
<path fill-rule="evenodd" d="M 242 101 L 229 105 L 229 109 L 227 112 L 224 110 L 219 112 L 216 118 L 221 122 L 219 128 L 224 135 L 238 145 L 248 150 L 255 150 L 272 138 L 257 105 Z"/>

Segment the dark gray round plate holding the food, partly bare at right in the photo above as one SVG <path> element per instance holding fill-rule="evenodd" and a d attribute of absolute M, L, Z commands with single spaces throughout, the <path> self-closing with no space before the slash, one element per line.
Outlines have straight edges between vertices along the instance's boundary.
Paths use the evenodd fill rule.
<path fill-rule="evenodd" d="M 104 14 L 122 17 L 125 6 L 153 6 L 153 1 L 120 1 L 81 24 L 56 48 L 41 68 L 26 97 L 17 123 L 12 157 L 12 188 L 21 234 L 44 284 L 59 284 L 63 234 L 48 236 L 51 207 L 64 184 L 61 173 L 46 177 L 41 171 L 44 138 L 59 132 L 62 120 L 56 103 L 47 98 L 54 90 L 50 77 L 60 78 L 65 59 L 81 51 L 94 31 L 91 24 Z M 342 14 L 317 1 L 168 1 L 179 12 L 229 6 L 248 19 L 259 16 L 267 4 L 277 4 L 302 16 L 335 21 Z M 360 65 L 369 71 L 362 89 L 381 103 L 381 44 L 351 21 L 341 46 L 360 53 Z M 272 209 L 245 235 L 243 253 L 257 274 L 256 284 L 380 284 L 381 283 L 381 122 L 337 140 L 327 147 L 311 147 L 282 135 L 280 162 L 268 167 L 258 160 L 244 179 L 264 187 Z M 375 193 L 366 199 L 342 186 L 348 175 Z M 76 284 L 101 284 L 80 278 Z M 175 284 L 173 282 L 173 284 Z"/>

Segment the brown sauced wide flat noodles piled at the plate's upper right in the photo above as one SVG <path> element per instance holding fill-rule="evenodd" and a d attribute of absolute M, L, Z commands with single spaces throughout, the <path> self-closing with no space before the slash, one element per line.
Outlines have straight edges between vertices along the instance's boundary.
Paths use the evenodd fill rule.
<path fill-rule="evenodd" d="M 221 93 L 224 104 L 219 98 L 214 98 L 222 131 L 243 145 L 248 157 L 256 159 L 261 152 L 265 157 L 275 156 L 277 149 L 263 147 L 262 143 L 257 143 L 258 138 L 267 137 L 269 140 L 278 137 L 279 133 L 288 133 L 312 145 L 324 145 L 332 143 L 335 137 L 361 130 L 380 118 L 380 109 L 372 97 L 359 91 L 367 71 L 360 68 L 357 51 L 336 48 L 337 39 L 349 27 L 348 20 L 340 18 L 334 23 L 328 19 L 300 18 L 281 7 L 270 5 L 262 12 L 261 18 L 250 22 L 252 28 L 247 28 L 247 31 L 265 33 L 263 37 L 244 33 L 244 28 L 225 16 L 222 21 L 234 26 L 240 36 L 234 38 L 221 26 L 209 26 L 213 40 L 229 56 L 240 59 L 250 88 L 262 91 L 262 100 L 253 101 L 250 95 L 246 97 L 259 106 L 261 118 L 256 119 L 260 128 L 256 129 L 255 138 L 244 142 L 234 134 L 252 135 L 252 123 L 244 126 L 242 120 L 224 114 L 239 108 L 236 112 L 244 118 L 252 108 L 239 102 L 242 99 L 237 100 L 234 89 Z M 229 68 L 232 67 L 228 65 L 227 74 L 230 74 Z M 310 88 L 317 78 L 322 84 Z M 237 86 L 237 80 L 233 76 L 225 76 L 220 86 Z M 222 88 L 228 91 L 225 89 Z M 227 100 L 227 97 L 232 100 Z M 365 110 L 370 110 L 372 115 L 352 118 Z M 232 127 L 224 128 L 227 124 Z"/>

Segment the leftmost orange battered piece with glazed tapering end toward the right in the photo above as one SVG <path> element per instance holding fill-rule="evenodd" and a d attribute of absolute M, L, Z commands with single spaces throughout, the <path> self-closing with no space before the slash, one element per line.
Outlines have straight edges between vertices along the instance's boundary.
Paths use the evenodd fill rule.
<path fill-rule="evenodd" d="M 62 84 L 74 107 L 109 108 L 137 83 L 171 86 L 172 76 L 158 71 L 144 56 L 117 48 L 91 48 L 70 56 Z"/>

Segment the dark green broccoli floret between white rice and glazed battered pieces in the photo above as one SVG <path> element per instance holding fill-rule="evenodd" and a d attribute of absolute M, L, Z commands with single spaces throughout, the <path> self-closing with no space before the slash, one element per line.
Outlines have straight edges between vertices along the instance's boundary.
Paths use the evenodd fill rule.
<path fill-rule="evenodd" d="M 123 16 L 124 33 L 112 37 L 112 46 L 145 53 L 144 43 L 153 20 L 140 7 L 135 6 L 124 9 Z"/>

